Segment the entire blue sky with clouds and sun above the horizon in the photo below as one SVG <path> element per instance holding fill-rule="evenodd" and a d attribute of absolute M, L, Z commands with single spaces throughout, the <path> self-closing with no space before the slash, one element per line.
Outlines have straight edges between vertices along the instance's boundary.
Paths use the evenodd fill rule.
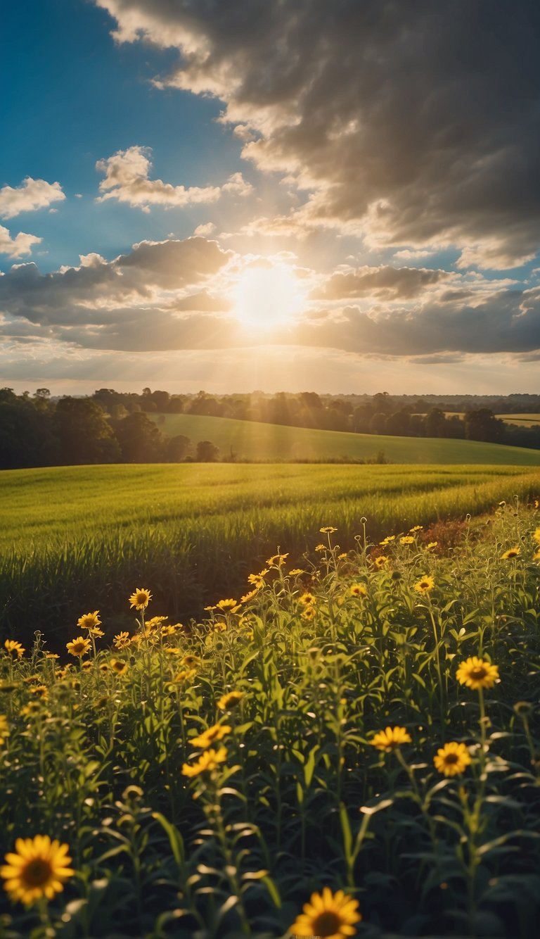
<path fill-rule="evenodd" d="M 536 0 L 7 0 L 0 385 L 540 393 Z"/>

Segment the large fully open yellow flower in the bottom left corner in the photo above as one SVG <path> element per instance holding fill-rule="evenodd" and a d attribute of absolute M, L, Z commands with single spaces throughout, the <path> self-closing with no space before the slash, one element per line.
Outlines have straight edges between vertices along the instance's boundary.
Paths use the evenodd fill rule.
<path fill-rule="evenodd" d="M 15 852 L 6 854 L 6 864 L 0 868 L 4 885 L 12 901 L 31 906 L 42 897 L 52 900 L 64 889 L 64 881 L 75 873 L 69 864 L 67 844 L 52 841 L 48 835 L 18 838 Z"/>

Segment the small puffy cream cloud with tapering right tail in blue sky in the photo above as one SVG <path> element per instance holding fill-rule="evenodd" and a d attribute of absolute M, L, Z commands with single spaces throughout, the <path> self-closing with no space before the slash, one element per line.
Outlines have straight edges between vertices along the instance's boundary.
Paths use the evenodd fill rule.
<path fill-rule="evenodd" d="M 134 208 L 148 211 L 150 206 L 184 208 L 201 203 L 217 202 L 223 192 L 248 195 L 252 186 L 241 173 L 234 173 L 223 186 L 173 186 L 162 179 L 150 179 L 152 168 L 150 147 L 129 146 L 118 150 L 106 160 L 98 160 L 96 169 L 105 174 L 99 183 L 98 202 L 116 199 Z"/>

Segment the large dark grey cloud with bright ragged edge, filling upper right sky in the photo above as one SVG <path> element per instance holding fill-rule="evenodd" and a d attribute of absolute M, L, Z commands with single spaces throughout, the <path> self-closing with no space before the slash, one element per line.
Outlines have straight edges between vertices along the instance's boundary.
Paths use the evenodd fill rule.
<path fill-rule="evenodd" d="M 474 0 L 95 0 L 120 42 L 176 48 L 156 84 L 212 95 L 243 155 L 305 193 L 267 228 L 455 245 L 512 268 L 540 240 L 540 14 Z"/>

